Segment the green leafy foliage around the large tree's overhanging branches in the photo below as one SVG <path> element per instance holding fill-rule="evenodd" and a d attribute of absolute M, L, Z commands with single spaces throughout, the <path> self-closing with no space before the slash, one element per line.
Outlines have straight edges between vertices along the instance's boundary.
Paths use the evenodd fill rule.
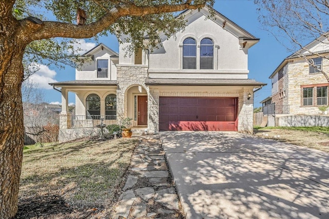
<path fill-rule="evenodd" d="M 204 4 L 213 5 L 214 1 L 30 1 L 19 0 L 13 7 L 13 15 L 17 19 L 33 16 L 40 20 L 54 18 L 56 21 L 76 24 L 77 9 L 81 8 L 87 13 L 86 24 L 92 24 L 108 13 L 115 12 L 117 8 L 124 7 L 145 7 L 159 5 L 177 5 L 189 4 L 191 6 L 201 7 Z M 94 36 L 97 41 L 100 35 L 109 33 L 119 36 L 126 35 L 125 41 L 132 43 L 129 52 L 143 48 L 143 39 L 145 36 L 149 39 L 149 47 L 152 50 L 157 47 L 156 42 L 160 41 L 159 33 L 165 33 L 168 37 L 175 34 L 178 30 L 185 27 L 184 17 L 177 17 L 175 13 L 155 13 L 142 14 L 141 16 L 131 16 L 127 14 L 120 16 L 108 27 L 104 28 L 98 35 Z M 79 35 L 76 36 L 80 38 Z M 78 47 L 74 47 L 78 45 Z M 43 65 L 54 65 L 64 68 L 65 65 L 75 66 L 77 55 L 83 50 L 79 47 L 79 42 L 73 38 L 45 38 L 31 42 L 27 45 L 24 53 L 24 70 L 25 78 L 33 74 L 36 70 L 31 71 L 28 67 L 31 63 Z M 80 60 L 81 63 L 81 60 Z"/>

